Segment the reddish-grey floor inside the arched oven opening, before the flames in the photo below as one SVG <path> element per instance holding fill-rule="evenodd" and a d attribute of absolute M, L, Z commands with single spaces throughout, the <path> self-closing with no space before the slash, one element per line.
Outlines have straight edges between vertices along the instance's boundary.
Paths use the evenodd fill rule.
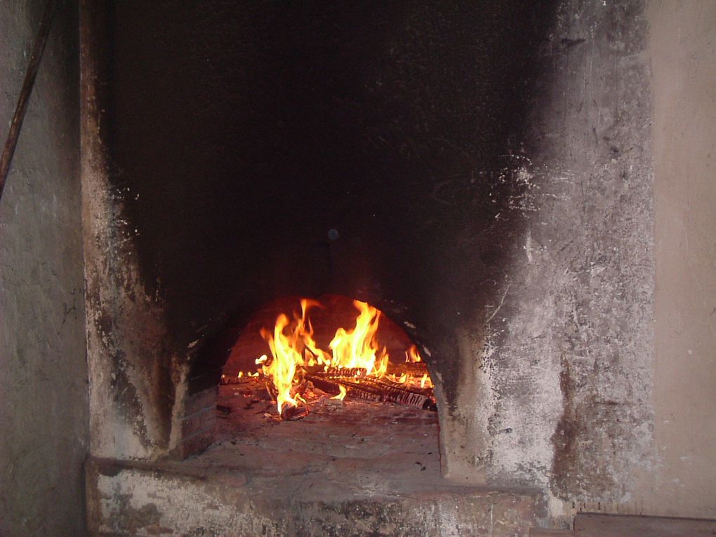
<path fill-rule="evenodd" d="M 256 382 L 221 386 L 218 403 L 231 412 L 217 413 L 217 442 L 196 462 L 238 464 L 253 485 L 318 500 L 446 486 L 437 412 L 320 396 L 308 401 L 306 417 L 282 422 L 262 382 L 258 389 Z"/>

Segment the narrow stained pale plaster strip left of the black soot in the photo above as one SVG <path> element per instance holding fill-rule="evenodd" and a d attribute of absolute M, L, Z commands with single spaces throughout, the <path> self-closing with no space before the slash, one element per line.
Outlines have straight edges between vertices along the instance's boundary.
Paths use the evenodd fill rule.
<path fill-rule="evenodd" d="M 118 180 L 106 150 L 102 2 L 81 4 L 82 231 L 87 302 L 91 451 L 117 458 L 155 458 L 170 449 L 175 392 L 183 364 L 166 346 L 160 298 L 137 266 L 140 233 L 125 218 L 133 195 Z"/>

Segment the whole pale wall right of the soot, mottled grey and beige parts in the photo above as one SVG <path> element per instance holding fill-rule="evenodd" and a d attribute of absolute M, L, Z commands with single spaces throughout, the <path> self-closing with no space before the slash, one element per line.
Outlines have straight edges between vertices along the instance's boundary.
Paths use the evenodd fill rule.
<path fill-rule="evenodd" d="M 715 28 L 711 2 L 563 2 L 543 50 L 526 233 L 465 348 L 474 463 L 553 523 L 716 516 Z"/>

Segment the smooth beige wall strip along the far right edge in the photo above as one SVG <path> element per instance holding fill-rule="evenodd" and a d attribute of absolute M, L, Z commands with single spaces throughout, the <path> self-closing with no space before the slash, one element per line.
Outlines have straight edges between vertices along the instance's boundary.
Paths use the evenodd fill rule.
<path fill-rule="evenodd" d="M 716 518 L 716 4 L 650 5 L 659 463 L 646 513 Z"/>

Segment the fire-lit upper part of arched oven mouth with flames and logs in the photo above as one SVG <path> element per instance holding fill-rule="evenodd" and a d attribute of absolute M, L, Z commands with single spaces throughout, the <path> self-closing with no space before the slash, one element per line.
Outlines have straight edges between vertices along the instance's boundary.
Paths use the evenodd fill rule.
<path fill-rule="evenodd" d="M 221 384 L 238 387 L 247 408 L 271 400 L 266 415 L 277 420 L 357 400 L 437 410 L 417 345 L 382 311 L 342 295 L 261 308 L 231 349 Z"/>

